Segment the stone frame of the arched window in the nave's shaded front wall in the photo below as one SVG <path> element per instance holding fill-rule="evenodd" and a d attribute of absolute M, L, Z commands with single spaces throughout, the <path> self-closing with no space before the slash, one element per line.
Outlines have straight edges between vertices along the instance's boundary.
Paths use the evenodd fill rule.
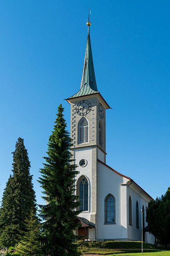
<path fill-rule="evenodd" d="M 111 203 L 110 203 L 110 206 L 108 206 L 108 199 L 112 197 L 113 198 L 113 201 L 114 201 L 114 209 L 113 211 L 110 209 L 110 211 L 108 211 L 108 208 L 111 207 Z M 108 194 L 106 197 L 105 197 L 105 201 L 104 201 L 104 223 L 105 224 L 116 224 L 116 211 L 115 211 L 116 207 L 115 207 L 115 197 L 112 195 L 112 194 Z M 110 213 L 109 213 L 110 212 Z M 113 214 L 113 218 L 114 218 L 114 221 L 108 221 L 108 218 L 110 216 L 108 216 L 108 213 L 109 215 L 111 216 Z"/>

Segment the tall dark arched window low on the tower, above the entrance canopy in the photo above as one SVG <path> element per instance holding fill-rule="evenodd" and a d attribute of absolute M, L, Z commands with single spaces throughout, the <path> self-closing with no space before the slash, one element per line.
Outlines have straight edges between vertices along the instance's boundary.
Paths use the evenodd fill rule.
<path fill-rule="evenodd" d="M 79 210 L 89 210 L 89 183 L 86 177 L 81 176 L 78 180 L 78 195 L 81 205 Z"/>

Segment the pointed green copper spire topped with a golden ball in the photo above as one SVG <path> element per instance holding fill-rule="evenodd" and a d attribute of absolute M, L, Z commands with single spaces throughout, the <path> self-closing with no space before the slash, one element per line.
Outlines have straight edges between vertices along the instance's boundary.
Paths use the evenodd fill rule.
<path fill-rule="evenodd" d="M 90 25 L 91 23 L 88 21 L 88 36 L 87 36 L 87 44 L 86 44 L 86 53 L 84 58 L 84 66 L 83 66 L 83 74 L 81 78 L 80 90 L 69 97 L 68 99 L 90 95 L 97 93 L 97 84 L 94 73 L 94 65 L 93 65 L 93 57 L 92 57 L 92 49 L 91 49 L 91 41 L 90 41 Z"/>

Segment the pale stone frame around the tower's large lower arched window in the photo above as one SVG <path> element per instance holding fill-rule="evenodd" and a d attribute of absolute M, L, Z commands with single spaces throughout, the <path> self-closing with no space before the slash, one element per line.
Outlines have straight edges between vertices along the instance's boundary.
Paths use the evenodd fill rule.
<path fill-rule="evenodd" d="M 84 181 L 83 181 L 84 179 Z M 83 181 L 83 191 L 81 190 L 81 182 Z M 87 188 L 85 188 L 85 182 L 87 181 Z M 83 195 L 83 205 L 80 205 L 77 210 L 83 210 L 83 211 L 89 211 L 89 180 L 85 175 L 82 175 L 81 177 L 78 178 L 77 184 L 76 184 L 76 195 L 79 196 L 79 200 L 81 201 L 81 195 Z M 85 194 L 86 193 L 86 194 Z M 85 209 L 84 209 L 85 208 Z"/>

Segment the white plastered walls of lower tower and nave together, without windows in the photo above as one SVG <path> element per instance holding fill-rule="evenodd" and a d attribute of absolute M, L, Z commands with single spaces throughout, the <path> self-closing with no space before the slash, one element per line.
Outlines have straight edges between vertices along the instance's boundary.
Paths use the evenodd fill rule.
<path fill-rule="evenodd" d="M 122 240 L 122 241 L 141 241 L 141 209 L 145 209 L 148 202 L 152 199 L 130 178 L 121 175 L 112 168 L 104 164 L 104 154 L 98 149 L 97 161 L 98 165 L 98 194 L 97 212 L 92 212 L 92 148 L 74 150 L 75 163 L 78 165 L 79 174 L 76 177 L 76 187 L 79 178 L 85 176 L 89 182 L 89 208 L 88 211 L 83 211 L 79 216 L 91 221 L 91 215 L 97 213 L 97 223 L 95 228 L 88 229 L 88 239 L 90 240 Z M 85 167 L 79 166 L 81 159 L 87 161 Z M 105 197 L 108 194 L 115 198 L 115 223 L 105 224 Z M 132 225 L 129 225 L 129 196 L 132 200 Z M 139 227 L 136 227 L 136 201 L 139 205 Z M 96 225 L 97 224 L 97 225 Z M 144 226 L 147 226 L 146 221 Z M 78 230 L 76 230 L 78 235 Z M 154 243 L 154 236 L 148 232 L 144 233 L 144 241 Z"/>

